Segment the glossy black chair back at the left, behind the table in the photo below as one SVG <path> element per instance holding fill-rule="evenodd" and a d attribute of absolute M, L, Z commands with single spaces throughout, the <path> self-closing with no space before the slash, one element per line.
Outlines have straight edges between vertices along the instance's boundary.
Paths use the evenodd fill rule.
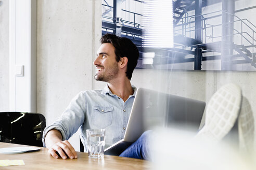
<path fill-rule="evenodd" d="M 42 114 L 0 112 L 0 141 L 43 147 L 45 126 L 46 121 Z"/>

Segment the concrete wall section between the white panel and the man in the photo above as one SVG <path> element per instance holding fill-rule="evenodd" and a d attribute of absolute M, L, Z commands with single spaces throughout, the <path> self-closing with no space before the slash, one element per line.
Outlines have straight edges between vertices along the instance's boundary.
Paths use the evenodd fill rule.
<path fill-rule="evenodd" d="M 37 3 L 37 112 L 50 124 L 77 93 L 93 88 L 101 1 Z M 79 150 L 78 135 L 71 143 Z"/>

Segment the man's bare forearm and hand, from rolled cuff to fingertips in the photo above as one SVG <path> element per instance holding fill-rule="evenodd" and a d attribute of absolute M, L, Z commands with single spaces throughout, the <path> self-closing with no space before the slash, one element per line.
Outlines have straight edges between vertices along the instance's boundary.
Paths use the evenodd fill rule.
<path fill-rule="evenodd" d="M 68 140 L 62 141 L 62 135 L 58 130 L 50 130 L 45 136 L 45 145 L 54 158 L 70 159 L 78 158 L 74 148 L 71 146 Z M 59 155 L 58 155 L 58 154 Z"/>

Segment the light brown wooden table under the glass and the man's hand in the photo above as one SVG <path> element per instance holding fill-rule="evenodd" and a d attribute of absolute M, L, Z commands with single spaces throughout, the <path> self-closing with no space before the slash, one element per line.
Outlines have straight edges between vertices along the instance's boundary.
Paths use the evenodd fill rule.
<path fill-rule="evenodd" d="M 25 145 L 0 143 L 0 148 L 20 147 Z M 88 153 L 78 152 L 78 159 L 55 159 L 46 148 L 40 151 L 19 154 L 2 154 L 0 160 L 23 160 L 25 165 L 4 166 L 0 169 L 149 169 L 150 162 L 132 158 L 105 155 L 104 159 L 88 158 Z"/>

